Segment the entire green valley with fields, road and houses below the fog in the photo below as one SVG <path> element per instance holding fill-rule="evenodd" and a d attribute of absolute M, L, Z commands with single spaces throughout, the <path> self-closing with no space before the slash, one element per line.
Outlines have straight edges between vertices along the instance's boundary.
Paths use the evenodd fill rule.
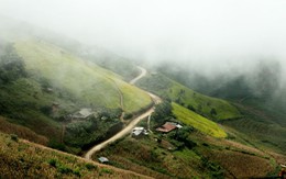
<path fill-rule="evenodd" d="M 286 163 L 285 112 L 243 85 L 194 90 L 168 66 L 4 40 L 0 178 L 263 178 Z"/>

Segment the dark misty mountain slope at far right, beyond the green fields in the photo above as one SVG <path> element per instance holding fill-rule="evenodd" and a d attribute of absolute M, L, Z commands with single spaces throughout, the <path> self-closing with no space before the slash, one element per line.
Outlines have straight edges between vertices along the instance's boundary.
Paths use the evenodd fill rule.
<path fill-rule="evenodd" d="M 242 118 L 223 121 L 257 146 L 285 153 L 286 93 L 280 65 L 262 60 L 251 71 L 213 74 L 211 77 L 176 65 L 162 65 L 158 70 L 172 79 L 207 96 L 231 101 Z"/>

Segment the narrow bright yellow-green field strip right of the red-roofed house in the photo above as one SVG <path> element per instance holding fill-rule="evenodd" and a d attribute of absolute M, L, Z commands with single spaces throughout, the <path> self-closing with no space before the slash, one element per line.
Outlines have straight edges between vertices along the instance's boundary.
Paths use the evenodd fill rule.
<path fill-rule="evenodd" d="M 182 121 L 184 124 L 190 125 L 198 131 L 215 136 L 215 137 L 227 137 L 227 133 L 215 122 L 179 105 L 172 103 L 173 113 L 177 120 Z"/>

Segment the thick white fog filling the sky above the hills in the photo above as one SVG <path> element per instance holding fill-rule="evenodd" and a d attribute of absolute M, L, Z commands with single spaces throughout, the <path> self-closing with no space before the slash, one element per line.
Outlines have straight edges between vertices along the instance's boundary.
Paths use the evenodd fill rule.
<path fill-rule="evenodd" d="M 170 61 L 207 77 L 277 61 L 285 81 L 286 1 L 0 0 L 0 14 L 151 65 Z M 18 29 L 21 33 L 22 27 Z"/>

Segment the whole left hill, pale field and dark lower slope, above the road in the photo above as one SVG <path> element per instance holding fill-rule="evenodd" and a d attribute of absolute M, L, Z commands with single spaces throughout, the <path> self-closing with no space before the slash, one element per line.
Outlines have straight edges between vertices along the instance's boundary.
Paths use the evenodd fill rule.
<path fill-rule="evenodd" d="M 68 145 L 72 148 L 65 149 L 80 153 L 120 130 L 122 110 L 136 113 L 152 103 L 147 93 L 120 76 L 50 43 L 21 41 L 2 49 L 0 114 L 46 136 L 52 147 Z M 70 121 L 82 108 L 97 115 Z"/>

